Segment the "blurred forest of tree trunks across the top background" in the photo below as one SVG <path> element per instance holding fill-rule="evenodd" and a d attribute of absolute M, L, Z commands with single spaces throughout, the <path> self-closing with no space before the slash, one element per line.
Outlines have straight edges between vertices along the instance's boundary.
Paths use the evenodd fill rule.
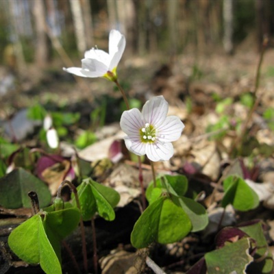
<path fill-rule="evenodd" d="M 127 39 L 127 54 L 233 53 L 259 49 L 274 33 L 272 0 L 9 0 L 0 1 L 0 64 L 24 71 L 61 58 L 108 49 L 110 29 Z M 273 45 L 273 41 L 269 45 Z"/>

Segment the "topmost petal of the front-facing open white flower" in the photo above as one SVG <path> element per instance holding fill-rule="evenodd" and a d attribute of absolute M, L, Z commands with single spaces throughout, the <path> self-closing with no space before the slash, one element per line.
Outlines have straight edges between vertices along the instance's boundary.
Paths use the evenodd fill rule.
<path fill-rule="evenodd" d="M 153 97 L 145 103 L 142 107 L 142 116 L 144 117 L 145 123 L 158 127 L 166 119 L 168 110 L 169 103 L 161 95 Z"/>

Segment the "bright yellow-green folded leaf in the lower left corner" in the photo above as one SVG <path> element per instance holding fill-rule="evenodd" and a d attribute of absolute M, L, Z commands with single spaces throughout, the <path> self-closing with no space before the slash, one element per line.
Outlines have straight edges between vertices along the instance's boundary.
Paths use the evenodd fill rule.
<path fill-rule="evenodd" d="M 47 274 L 62 274 L 58 257 L 45 233 L 40 214 L 16 227 L 8 238 L 10 249 L 21 260 L 38 264 Z"/>

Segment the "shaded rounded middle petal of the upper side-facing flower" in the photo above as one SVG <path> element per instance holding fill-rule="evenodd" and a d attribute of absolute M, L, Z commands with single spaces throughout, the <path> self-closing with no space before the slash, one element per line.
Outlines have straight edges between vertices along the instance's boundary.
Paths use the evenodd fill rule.
<path fill-rule="evenodd" d="M 85 58 L 82 60 L 82 73 L 88 77 L 101 77 L 108 72 L 108 67 L 95 59 Z"/>

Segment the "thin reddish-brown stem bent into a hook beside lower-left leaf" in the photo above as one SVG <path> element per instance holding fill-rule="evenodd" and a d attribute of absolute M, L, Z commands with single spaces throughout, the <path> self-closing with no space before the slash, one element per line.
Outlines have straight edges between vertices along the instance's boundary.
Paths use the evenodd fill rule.
<path fill-rule="evenodd" d="M 80 203 L 79 203 L 79 197 L 77 194 L 77 189 L 75 188 L 75 186 L 73 186 L 73 184 L 71 182 L 69 182 L 69 180 L 64 180 L 62 182 L 62 184 L 60 184 L 58 191 L 57 191 L 57 197 L 61 197 L 61 191 L 62 188 L 65 185 L 69 185 L 69 187 L 71 188 L 71 190 L 73 191 L 74 195 L 75 195 L 75 201 L 77 204 L 77 208 L 79 208 L 80 212 L 81 212 L 81 207 L 80 207 Z M 82 234 L 82 253 L 83 253 L 83 259 L 84 259 L 84 269 L 85 272 L 88 273 L 88 256 L 86 253 L 86 235 L 85 235 L 85 229 L 84 229 L 84 222 L 82 219 L 82 214 L 80 215 L 80 227 L 81 227 L 81 234 Z"/>

